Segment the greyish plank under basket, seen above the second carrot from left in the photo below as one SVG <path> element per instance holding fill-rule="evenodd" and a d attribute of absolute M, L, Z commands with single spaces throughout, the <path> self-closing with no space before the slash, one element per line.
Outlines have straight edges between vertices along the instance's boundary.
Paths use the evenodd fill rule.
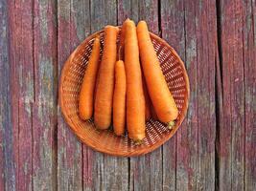
<path fill-rule="evenodd" d="M 117 25 L 116 1 L 91 1 L 91 32 L 105 25 Z M 84 156 L 84 155 L 83 155 Z M 85 159 L 92 164 L 91 157 Z M 128 190 L 128 159 L 106 156 L 95 152 L 92 182 L 96 190 Z"/>

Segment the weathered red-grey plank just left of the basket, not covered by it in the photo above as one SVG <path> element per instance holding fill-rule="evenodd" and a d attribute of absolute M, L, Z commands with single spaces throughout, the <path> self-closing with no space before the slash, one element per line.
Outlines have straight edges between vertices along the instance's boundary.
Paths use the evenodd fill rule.
<path fill-rule="evenodd" d="M 57 189 L 57 9 L 34 1 L 33 189 Z"/>

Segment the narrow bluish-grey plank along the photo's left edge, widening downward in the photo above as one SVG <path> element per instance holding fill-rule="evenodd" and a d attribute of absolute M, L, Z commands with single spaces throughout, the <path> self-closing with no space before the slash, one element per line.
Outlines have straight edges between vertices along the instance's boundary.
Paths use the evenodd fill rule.
<path fill-rule="evenodd" d="M 0 1 L 0 26 L 0 190 L 15 190 L 7 1 Z"/>

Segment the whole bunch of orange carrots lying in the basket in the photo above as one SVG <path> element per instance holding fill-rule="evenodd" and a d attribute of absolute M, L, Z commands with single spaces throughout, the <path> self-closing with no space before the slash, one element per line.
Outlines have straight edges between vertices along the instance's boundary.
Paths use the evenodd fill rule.
<path fill-rule="evenodd" d="M 145 121 L 151 117 L 174 125 L 178 115 L 159 60 L 151 43 L 145 21 L 135 26 L 127 19 L 121 30 L 105 27 L 105 44 L 100 63 L 100 36 L 93 50 L 81 84 L 80 117 L 94 116 L 98 129 L 107 129 L 113 121 L 117 136 L 124 135 L 140 142 L 146 136 Z"/>

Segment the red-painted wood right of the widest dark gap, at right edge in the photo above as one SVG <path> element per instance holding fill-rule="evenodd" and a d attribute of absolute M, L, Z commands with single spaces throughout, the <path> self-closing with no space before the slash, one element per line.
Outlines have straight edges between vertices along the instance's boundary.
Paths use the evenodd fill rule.
<path fill-rule="evenodd" d="M 255 1 L 221 1 L 220 10 L 220 188 L 255 190 Z"/>

